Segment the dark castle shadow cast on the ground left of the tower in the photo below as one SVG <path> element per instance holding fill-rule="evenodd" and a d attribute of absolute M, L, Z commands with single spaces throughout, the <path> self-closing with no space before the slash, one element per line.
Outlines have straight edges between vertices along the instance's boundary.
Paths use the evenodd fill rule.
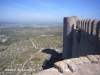
<path fill-rule="evenodd" d="M 62 60 L 62 53 L 58 53 L 53 49 L 44 49 L 42 52 L 51 55 L 50 59 L 45 60 L 42 65 L 44 70 L 54 67 L 55 62 Z"/>

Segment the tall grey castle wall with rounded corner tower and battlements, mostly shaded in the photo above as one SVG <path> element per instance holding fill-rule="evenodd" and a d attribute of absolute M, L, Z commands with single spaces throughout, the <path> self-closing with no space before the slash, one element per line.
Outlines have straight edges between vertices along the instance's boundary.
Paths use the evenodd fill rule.
<path fill-rule="evenodd" d="M 100 54 L 100 21 L 64 17 L 62 58 Z"/>

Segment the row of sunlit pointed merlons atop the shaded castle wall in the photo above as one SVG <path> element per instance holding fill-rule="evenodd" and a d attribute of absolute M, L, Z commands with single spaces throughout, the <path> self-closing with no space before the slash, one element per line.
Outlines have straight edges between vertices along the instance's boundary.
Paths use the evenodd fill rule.
<path fill-rule="evenodd" d="M 78 21 L 76 26 L 85 30 L 88 34 L 97 35 L 99 37 L 100 21 L 97 19 L 81 20 Z"/>

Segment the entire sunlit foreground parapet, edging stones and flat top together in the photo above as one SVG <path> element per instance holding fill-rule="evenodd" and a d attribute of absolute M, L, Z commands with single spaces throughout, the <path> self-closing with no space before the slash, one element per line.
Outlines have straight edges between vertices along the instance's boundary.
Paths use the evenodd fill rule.
<path fill-rule="evenodd" d="M 34 75 L 100 75 L 100 55 L 87 55 L 54 63 L 54 67 Z"/>

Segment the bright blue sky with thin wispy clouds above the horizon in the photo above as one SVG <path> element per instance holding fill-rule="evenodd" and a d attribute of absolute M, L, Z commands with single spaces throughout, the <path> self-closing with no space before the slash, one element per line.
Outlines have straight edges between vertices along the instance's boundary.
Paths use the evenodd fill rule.
<path fill-rule="evenodd" d="M 0 22 L 63 22 L 63 17 L 100 19 L 100 0 L 0 0 Z"/>

